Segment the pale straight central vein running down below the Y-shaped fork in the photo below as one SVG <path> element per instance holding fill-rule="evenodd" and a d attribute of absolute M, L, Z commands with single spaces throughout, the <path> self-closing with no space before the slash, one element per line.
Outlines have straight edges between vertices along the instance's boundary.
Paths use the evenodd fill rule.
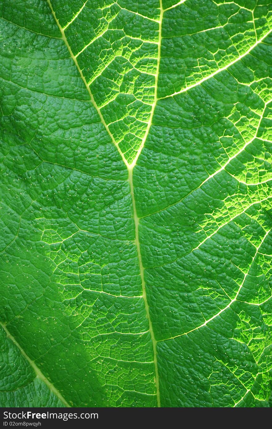
<path fill-rule="evenodd" d="M 145 310 L 146 310 L 146 317 L 147 317 L 148 323 L 149 323 L 149 332 L 150 332 L 150 336 L 151 336 L 151 340 L 152 340 L 152 346 L 153 346 L 154 366 L 155 366 L 155 385 L 156 385 L 156 391 L 157 391 L 158 407 L 160 407 L 161 402 L 160 402 L 159 378 L 158 378 L 157 341 L 155 339 L 152 321 L 151 321 L 150 313 L 149 313 L 149 305 L 148 305 L 147 297 L 146 297 L 146 282 L 144 280 L 144 267 L 143 267 L 142 255 L 141 255 L 141 251 L 140 251 L 140 241 L 139 241 L 139 218 L 137 216 L 137 211 L 136 211 L 133 177 L 132 177 L 133 176 L 133 169 L 131 168 L 128 170 L 129 170 L 129 186 L 130 186 L 130 192 L 131 192 L 131 196 L 132 196 L 133 218 L 134 218 L 134 223 L 135 223 L 135 245 L 137 247 L 137 255 L 138 255 L 138 261 L 139 261 L 139 267 L 140 267 L 140 278 L 141 278 L 141 282 L 142 282 L 143 301 L 144 301 L 144 306 L 145 306 Z"/>

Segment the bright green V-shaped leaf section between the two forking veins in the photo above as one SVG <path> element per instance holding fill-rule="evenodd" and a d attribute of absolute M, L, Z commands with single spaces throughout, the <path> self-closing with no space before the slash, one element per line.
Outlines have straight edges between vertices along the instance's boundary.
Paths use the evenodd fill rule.
<path fill-rule="evenodd" d="M 59 27 L 103 123 L 124 162 L 131 165 L 144 144 L 155 108 L 162 12 L 151 9 L 150 16 L 145 16 L 118 2 L 99 11 L 92 8 L 90 0 L 85 2 Z M 91 39 L 73 44 L 81 19 L 90 14 L 97 15 Z"/>

